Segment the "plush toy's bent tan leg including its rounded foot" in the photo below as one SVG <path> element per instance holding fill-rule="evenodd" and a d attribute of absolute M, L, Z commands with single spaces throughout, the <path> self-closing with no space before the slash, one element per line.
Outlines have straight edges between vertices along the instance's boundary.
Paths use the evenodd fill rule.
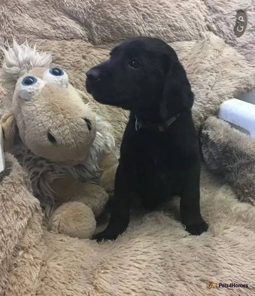
<path fill-rule="evenodd" d="M 90 238 L 99 216 L 108 202 L 108 194 L 99 185 L 81 183 L 72 176 L 54 180 L 52 188 L 63 203 L 49 220 L 49 229 L 72 237 Z"/>

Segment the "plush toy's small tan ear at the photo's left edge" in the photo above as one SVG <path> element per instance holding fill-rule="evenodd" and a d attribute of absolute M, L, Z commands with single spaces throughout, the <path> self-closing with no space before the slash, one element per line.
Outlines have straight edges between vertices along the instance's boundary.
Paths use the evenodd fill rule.
<path fill-rule="evenodd" d="M 4 133 L 4 150 L 9 151 L 14 145 L 17 133 L 17 125 L 13 114 L 9 111 L 5 112 L 0 119 L 0 124 Z"/>

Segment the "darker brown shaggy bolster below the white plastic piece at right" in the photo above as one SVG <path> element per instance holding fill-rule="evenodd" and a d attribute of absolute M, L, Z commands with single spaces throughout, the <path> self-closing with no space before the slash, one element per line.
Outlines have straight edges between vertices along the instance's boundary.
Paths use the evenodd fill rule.
<path fill-rule="evenodd" d="M 201 147 L 208 167 L 255 206 L 255 141 L 216 117 L 202 127 Z"/>

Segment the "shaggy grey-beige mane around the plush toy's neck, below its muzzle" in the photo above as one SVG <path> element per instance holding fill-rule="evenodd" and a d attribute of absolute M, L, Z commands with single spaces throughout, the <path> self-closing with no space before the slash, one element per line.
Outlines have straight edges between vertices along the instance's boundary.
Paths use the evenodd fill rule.
<path fill-rule="evenodd" d="M 46 160 L 25 148 L 19 136 L 12 153 L 18 158 L 20 164 L 27 170 L 31 179 L 34 195 L 40 200 L 45 216 L 52 213 L 56 200 L 55 192 L 51 187 L 54 179 L 72 175 L 79 181 L 92 181 L 98 183 L 100 177 L 100 160 L 103 150 L 114 149 L 114 138 L 110 125 L 100 116 L 96 116 L 96 137 L 90 148 L 86 164 L 73 165 L 57 163 Z"/>

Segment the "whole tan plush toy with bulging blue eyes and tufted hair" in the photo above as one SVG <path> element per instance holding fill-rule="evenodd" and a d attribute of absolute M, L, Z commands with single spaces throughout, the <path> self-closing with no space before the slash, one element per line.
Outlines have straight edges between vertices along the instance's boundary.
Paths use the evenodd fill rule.
<path fill-rule="evenodd" d="M 3 98 L 4 149 L 27 170 L 49 229 L 89 238 L 114 187 L 110 126 L 50 54 L 15 40 L 3 51 L 1 78 L 12 94 Z"/>

